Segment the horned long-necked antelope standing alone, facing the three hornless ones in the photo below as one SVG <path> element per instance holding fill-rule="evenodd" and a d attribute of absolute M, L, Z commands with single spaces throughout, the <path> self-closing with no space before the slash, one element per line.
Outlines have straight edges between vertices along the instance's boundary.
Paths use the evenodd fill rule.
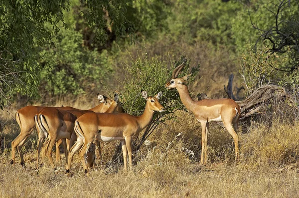
<path fill-rule="evenodd" d="M 167 89 L 176 88 L 179 97 L 184 106 L 195 115 L 195 118 L 201 124 L 201 159 L 200 164 L 207 162 L 207 138 L 209 130 L 209 122 L 223 122 L 224 127 L 232 135 L 235 142 L 235 160 L 239 159 L 238 147 L 238 122 L 241 116 L 240 106 L 232 99 L 203 99 L 195 101 L 190 97 L 187 84 L 189 75 L 177 78 L 182 70 L 185 61 L 177 66 L 171 76 L 171 80 L 165 85 Z"/>

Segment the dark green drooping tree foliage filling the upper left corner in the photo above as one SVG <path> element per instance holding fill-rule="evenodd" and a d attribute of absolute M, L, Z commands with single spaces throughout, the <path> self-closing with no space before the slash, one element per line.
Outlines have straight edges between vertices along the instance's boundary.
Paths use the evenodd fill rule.
<path fill-rule="evenodd" d="M 40 67 L 34 46 L 50 42 L 51 34 L 58 32 L 58 21 L 63 21 L 62 10 L 68 8 L 68 0 L 1 1 L 0 106 L 9 103 L 16 92 L 38 96 Z"/>

